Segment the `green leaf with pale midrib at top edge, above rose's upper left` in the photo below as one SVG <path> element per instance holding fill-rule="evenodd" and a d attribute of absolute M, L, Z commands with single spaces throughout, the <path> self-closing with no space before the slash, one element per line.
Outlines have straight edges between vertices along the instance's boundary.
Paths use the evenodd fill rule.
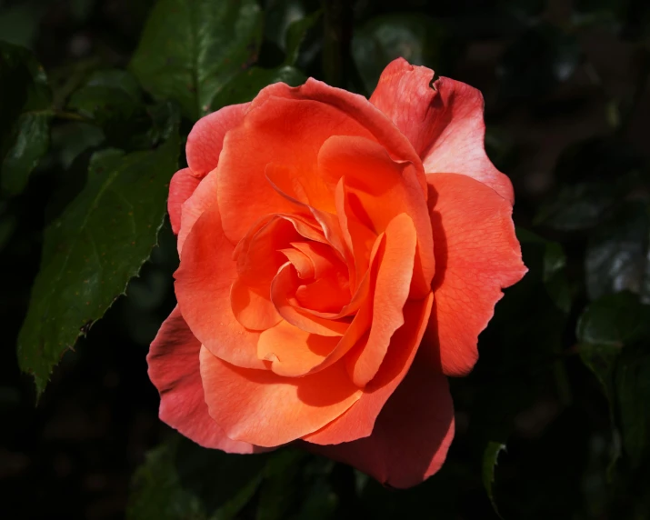
<path fill-rule="evenodd" d="M 261 37 L 255 0 L 159 0 L 129 66 L 146 91 L 177 101 L 196 120 L 231 78 L 255 62 Z"/>

